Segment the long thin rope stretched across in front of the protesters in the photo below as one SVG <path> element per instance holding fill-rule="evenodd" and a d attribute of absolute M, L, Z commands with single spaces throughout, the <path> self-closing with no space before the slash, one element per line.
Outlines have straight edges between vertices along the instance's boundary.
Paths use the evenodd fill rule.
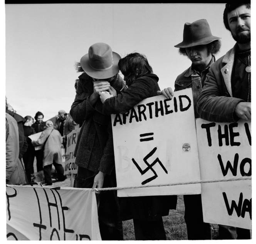
<path fill-rule="evenodd" d="M 204 184 L 204 183 L 216 183 L 216 182 L 227 182 L 227 181 L 241 181 L 241 180 L 251 180 L 251 176 L 242 176 L 242 177 L 233 177 L 233 178 L 223 178 L 223 179 L 213 179 L 213 180 L 199 180 L 199 181 L 189 181 L 189 182 L 178 182 L 178 183 L 170 183 L 170 184 L 158 184 L 158 185 L 143 185 L 143 186 L 126 186 L 126 187 L 110 187 L 110 188 L 95 188 L 96 191 L 115 191 L 115 190 L 124 190 L 124 189 L 138 189 L 138 188 L 149 188 L 149 187 L 159 187 L 159 186 L 178 186 L 178 185 L 188 185 L 188 184 Z M 13 185 L 7 185 L 7 186 L 13 186 Z M 19 186 L 15 185 L 15 187 L 21 187 L 21 188 L 50 188 L 50 189 L 56 189 L 61 187 L 54 187 L 54 186 Z M 74 189 L 70 187 L 71 189 Z M 83 191 L 84 188 L 76 188 L 76 190 Z"/>

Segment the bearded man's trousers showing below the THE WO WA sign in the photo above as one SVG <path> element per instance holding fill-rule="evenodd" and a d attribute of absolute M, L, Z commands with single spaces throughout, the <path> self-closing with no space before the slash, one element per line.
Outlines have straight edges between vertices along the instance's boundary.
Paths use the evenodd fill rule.
<path fill-rule="evenodd" d="M 245 240 L 251 239 L 251 232 L 249 229 L 239 227 L 226 226 L 219 224 L 219 239 L 220 240 Z"/>

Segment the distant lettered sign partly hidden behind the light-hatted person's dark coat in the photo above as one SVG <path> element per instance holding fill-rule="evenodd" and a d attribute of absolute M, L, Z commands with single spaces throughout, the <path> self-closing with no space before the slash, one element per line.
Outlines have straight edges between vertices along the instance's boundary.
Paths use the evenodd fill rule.
<path fill-rule="evenodd" d="M 66 151 L 66 163 L 64 166 L 64 174 L 77 174 L 77 164 L 75 164 L 76 157 L 74 151 L 76 148 L 76 142 L 78 134 L 81 128 L 74 129 L 67 135 L 67 151 Z"/>

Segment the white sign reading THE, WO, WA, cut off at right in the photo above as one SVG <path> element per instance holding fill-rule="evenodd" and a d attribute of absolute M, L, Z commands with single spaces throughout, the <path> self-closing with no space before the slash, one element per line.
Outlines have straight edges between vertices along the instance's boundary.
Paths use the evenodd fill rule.
<path fill-rule="evenodd" d="M 196 120 L 202 180 L 251 176 L 251 121 Z M 251 181 L 202 184 L 204 222 L 251 229 Z"/>

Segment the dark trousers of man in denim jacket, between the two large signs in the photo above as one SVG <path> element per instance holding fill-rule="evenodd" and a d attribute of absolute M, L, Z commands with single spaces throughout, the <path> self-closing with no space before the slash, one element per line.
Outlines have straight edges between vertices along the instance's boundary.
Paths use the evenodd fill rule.
<path fill-rule="evenodd" d="M 184 195 L 188 240 L 212 240 L 212 227 L 203 221 L 201 194 Z"/>

